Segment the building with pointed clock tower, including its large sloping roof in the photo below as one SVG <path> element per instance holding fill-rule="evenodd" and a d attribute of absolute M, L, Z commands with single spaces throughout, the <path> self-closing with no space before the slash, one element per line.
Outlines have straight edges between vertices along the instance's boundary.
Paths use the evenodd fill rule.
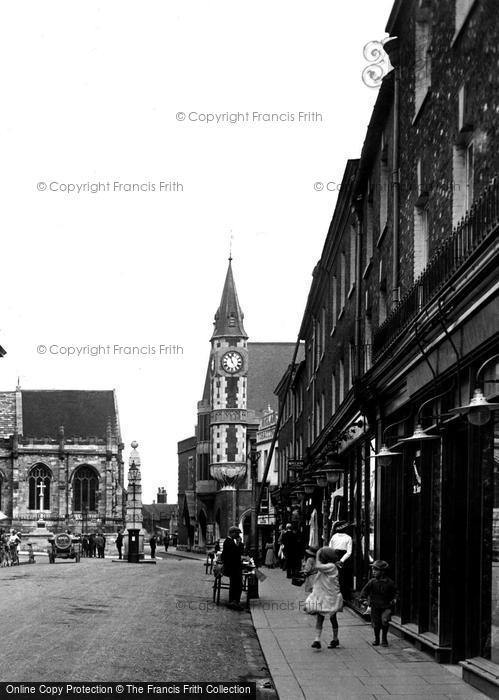
<path fill-rule="evenodd" d="M 249 455 L 294 343 L 250 343 L 232 259 L 215 314 L 196 435 L 179 442 L 179 546 L 204 550 L 238 524 L 249 536 Z"/>

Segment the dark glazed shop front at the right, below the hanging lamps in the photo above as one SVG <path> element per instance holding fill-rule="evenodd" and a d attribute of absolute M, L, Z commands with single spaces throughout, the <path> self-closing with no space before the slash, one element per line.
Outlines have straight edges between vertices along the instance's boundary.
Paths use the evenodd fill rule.
<path fill-rule="evenodd" d="M 415 439 L 406 430 L 391 464 L 376 466 L 376 500 L 379 556 L 400 593 L 394 631 L 499 697 L 499 411 L 489 413 L 443 413 Z"/>

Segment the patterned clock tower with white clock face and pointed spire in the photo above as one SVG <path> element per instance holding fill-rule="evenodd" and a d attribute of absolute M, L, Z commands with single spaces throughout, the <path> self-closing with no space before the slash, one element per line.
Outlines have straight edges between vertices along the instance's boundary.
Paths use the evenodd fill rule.
<path fill-rule="evenodd" d="M 229 258 L 222 299 L 215 314 L 209 371 L 210 472 L 222 491 L 234 491 L 247 469 L 248 336 L 243 319 Z M 226 505 L 232 510 L 229 503 Z M 235 512 L 230 517 L 236 522 Z"/>

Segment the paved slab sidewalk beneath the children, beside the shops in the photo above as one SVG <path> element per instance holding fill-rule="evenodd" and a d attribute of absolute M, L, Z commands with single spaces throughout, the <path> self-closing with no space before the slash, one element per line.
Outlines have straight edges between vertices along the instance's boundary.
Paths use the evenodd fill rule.
<path fill-rule="evenodd" d="M 338 615 L 340 646 L 326 648 L 331 626 L 325 620 L 322 649 L 312 649 L 315 617 L 303 612 L 303 588 L 279 569 L 262 571 L 267 579 L 251 615 L 281 700 L 486 697 L 461 679 L 460 667 L 438 664 L 392 634 L 388 648 L 373 647 L 371 626 L 349 609 Z"/>

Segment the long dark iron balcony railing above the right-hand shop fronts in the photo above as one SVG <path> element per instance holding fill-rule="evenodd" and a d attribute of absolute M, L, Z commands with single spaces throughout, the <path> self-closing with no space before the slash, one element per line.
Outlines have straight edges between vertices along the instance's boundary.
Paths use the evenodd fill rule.
<path fill-rule="evenodd" d="M 373 358 L 393 343 L 415 316 L 499 224 L 499 180 L 494 178 L 373 337 Z"/>

